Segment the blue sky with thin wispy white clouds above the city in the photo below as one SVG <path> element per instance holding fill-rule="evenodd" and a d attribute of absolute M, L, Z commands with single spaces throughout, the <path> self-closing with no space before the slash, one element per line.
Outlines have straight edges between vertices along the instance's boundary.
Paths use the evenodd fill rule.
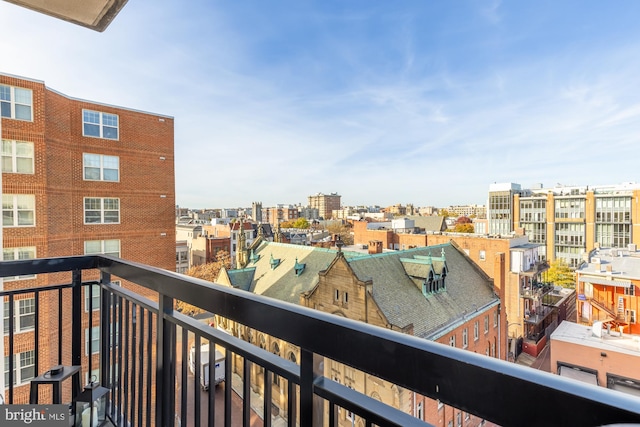
<path fill-rule="evenodd" d="M 493 182 L 639 180 L 638 16 L 631 0 L 130 0 L 96 33 L 0 2 L 0 71 L 175 117 L 181 206 L 484 203 Z"/>

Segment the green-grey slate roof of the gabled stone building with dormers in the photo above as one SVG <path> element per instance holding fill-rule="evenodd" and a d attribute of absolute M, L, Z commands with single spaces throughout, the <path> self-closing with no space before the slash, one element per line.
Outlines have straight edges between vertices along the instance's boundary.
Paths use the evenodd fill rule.
<path fill-rule="evenodd" d="M 446 261 L 441 258 L 443 249 Z M 231 279 L 232 282 L 250 292 L 294 304 L 299 304 L 301 293 L 313 289 L 318 283 L 318 272 L 326 270 L 336 257 L 334 249 L 274 242 L 262 242 L 255 253 L 260 255 L 260 259 L 240 270 L 243 273 L 237 273 L 238 277 Z M 374 255 L 346 251 L 344 254 L 360 280 L 372 280 L 373 297 L 387 319 L 400 328 L 413 324 L 413 333 L 417 337 L 438 338 L 463 316 L 497 305 L 500 301 L 491 280 L 450 243 Z M 424 274 L 421 270 L 424 267 L 420 266 L 424 266 L 424 259 L 432 254 L 436 273 L 441 273 L 446 263 L 446 290 L 425 297 L 410 274 L 414 277 Z M 271 268 L 271 257 L 280 259 L 275 269 Z M 296 259 L 299 264 L 305 264 L 300 276 L 294 272 Z M 420 262 L 411 262 L 411 259 Z M 406 266 L 417 267 L 412 270 Z M 249 269 L 255 270 L 252 283 L 247 288 L 243 280 L 249 275 L 245 270 Z"/>

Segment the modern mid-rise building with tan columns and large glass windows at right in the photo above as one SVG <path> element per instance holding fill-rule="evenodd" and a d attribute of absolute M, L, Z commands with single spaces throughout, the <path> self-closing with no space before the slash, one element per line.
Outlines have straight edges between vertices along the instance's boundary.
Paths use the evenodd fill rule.
<path fill-rule="evenodd" d="M 541 257 L 577 268 L 596 247 L 640 242 L 640 184 L 489 187 L 489 234 L 524 233 L 542 245 Z"/>

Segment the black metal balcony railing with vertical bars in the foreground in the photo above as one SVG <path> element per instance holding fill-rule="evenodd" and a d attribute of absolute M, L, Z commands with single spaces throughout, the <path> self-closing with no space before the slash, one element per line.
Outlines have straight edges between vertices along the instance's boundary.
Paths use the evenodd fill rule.
<path fill-rule="evenodd" d="M 95 269 L 100 271 L 98 282 L 82 280 L 83 272 Z M 0 264 L 3 277 L 52 273 L 59 277 L 61 272 L 67 273 L 70 283 L 2 294 L 10 299 L 16 293 L 36 295 L 32 345 L 37 354 L 40 346 L 57 340 L 54 356 L 60 364 L 95 368 L 93 359 L 86 355 L 95 350 L 91 339 L 89 350 L 82 351 L 86 339 L 83 326 L 99 325 L 98 355 L 94 357 L 99 358 L 101 384 L 111 390 L 109 417 L 116 425 L 173 426 L 176 419 L 183 426 L 188 422 L 200 425 L 201 417 L 213 425 L 216 394 L 209 393 L 209 405 L 202 414 L 205 408 L 200 404 L 199 389 L 196 387 L 196 398 L 188 402 L 186 387 L 179 387 L 187 375 L 189 334 L 193 334 L 196 346 L 208 341 L 224 347 L 227 384 L 231 382 L 232 361 L 238 357 L 244 361 L 245 378 L 250 377 L 252 364 L 264 369 L 265 402 L 271 400 L 271 374 L 286 380 L 288 398 L 293 399 L 287 405 L 289 425 L 328 422 L 333 426 L 338 407 L 355 413 L 367 426 L 426 425 L 324 377 L 320 368 L 324 358 L 503 426 L 640 423 L 640 399 L 636 397 L 117 258 L 80 256 Z M 139 293 L 112 284 L 116 276 L 138 285 Z M 101 289 L 99 311 L 84 309 L 81 289 L 92 283 Z M 56 302 L 55 310 L 46 317 L 42 312 L 45 292 L 52 293 L 50 299 Z M 174 310 L 176 300 L 283 339 L 300 348 L 300 360 L 286 360 L 183 315 Z M 70 334 L 66 332 L 69 326 Z M 17 337 L 10 333 L 8 338 L 5 352 L 13 354 L 16 347 L 12 343 Z M 214 352 L 209 354 L 213 366 Z M 196 352 L 196 364 L 198 359 Z M 36 374 L 49 368 L 44 363 L 36 360 Z M 213 370 L 209 375 L 213 383 Z M 198 371 L 195 376 L 198 384 Z M 243 385 L 245 425 L 249 423 L 249 383 L 247 380 Z M 231 422 L 231 393 L 231 387 L 225 386 L 225 425 Z M 18 403 L 13 394 L 10 385 L 9 404 Z M 66 391 L 66 396 L 71 394 Z M 544 410 L 531 411 L 532 399 Z M 272 405 L 264 404 L 265 426 L 271 425 L 271 411 Z"/>

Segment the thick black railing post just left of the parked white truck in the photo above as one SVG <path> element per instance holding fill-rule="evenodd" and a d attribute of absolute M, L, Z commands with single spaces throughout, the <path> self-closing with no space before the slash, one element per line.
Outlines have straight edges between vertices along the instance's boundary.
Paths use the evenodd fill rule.
<path fill-rule="evenodd" d="M 175 421 L 175 335 L 176 327 L 165 320 L 173 311 L 173 298 L 159 295 L 156 366 L 156 425 L 173 426 Z"/>

